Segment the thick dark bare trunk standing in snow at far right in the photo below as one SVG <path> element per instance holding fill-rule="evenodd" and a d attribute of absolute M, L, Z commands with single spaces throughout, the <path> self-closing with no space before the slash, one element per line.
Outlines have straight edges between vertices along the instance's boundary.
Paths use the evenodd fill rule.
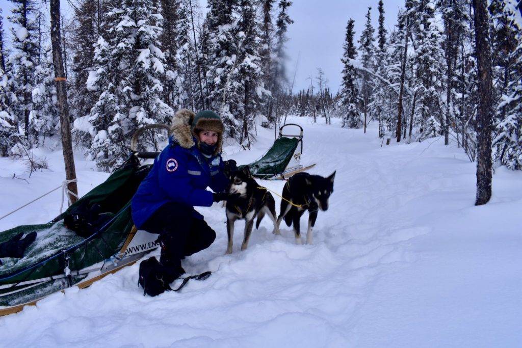
<path fill-rule="evenodd" d="M 477 110 L 477 199 L 483 205 L 491 198 L 491 128 L 492 95 L 491 52 L 488 42 L 487 0 L 473 0 L 475 43 L 479 72 L 479 105 Z"/>

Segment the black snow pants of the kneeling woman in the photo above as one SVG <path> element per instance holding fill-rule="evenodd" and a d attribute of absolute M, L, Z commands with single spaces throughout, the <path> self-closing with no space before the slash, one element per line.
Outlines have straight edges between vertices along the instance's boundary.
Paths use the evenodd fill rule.
<path fill-rule="evenodd" d="M 194 208 L 185 203 L 165 203 L 141 226 L 160 234 L 160 263 L 181 269 L 181 259 L 206 249 L 216 239 L 216 232 L 203 219 L 194 216 Z"/>

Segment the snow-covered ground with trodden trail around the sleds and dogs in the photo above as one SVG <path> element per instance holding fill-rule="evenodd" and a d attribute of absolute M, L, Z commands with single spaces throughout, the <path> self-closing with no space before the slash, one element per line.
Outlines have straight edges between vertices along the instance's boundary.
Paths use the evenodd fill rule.
<path fill-rule="evenodd" d="M 522 173 L 497 169 L 491 201 L 475 207 L 475 164 L 455 144 L 381 148 L 375 129 L 289 121 L 304 128 L 303 163 L 317 163 L 310 172 L 337 170 L 314 245 L 295 245 L 286 226 L 272 235 L 265 219 L 243 252 L 238 223 L 226 256 L 224 209 L 198 208 L 217 238 L 184 266 L 211 270 L 208 280 L 144 297 L 138 266 L 128 267 L 0 318 L 0 345 L 522 346 Z M 257 129 L 252 151 L 228 147 L 224 157 L 242 164 L 262 155 L 273 131 Z M 60 185 L 61 152 L 46 155 L 50 169 L 31 178 L 0 159 L 0 215 Z M 78 153 L 81 194 L 108 176 L 92 166 Z M 262 185 L 280 192 L 283 182 Z M 0 230 L 54 218 L 59 200 L 55 191 Z"/>

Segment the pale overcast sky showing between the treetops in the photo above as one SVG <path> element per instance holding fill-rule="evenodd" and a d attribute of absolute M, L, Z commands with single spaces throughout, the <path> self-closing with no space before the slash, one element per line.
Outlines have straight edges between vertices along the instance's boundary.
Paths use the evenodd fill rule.
<path fill-rule="evenodd" d="M 399 6 L 404 0 L 383 0 L 386 27 L 393 27 L 397 18 Z M 66 1 L 62 0 L 62 12 L 67 17 L 72 17 L 72 9 Z M 201 0 L 205 6 L 206 1 Z M 277 16 L 277 3 L 274 11 L 274 21 Z M 342 44 L 345 39 L 346 24 L 348 19 L 355 20 L 355 39 L 358 40 L 363 30 L 367 8 L 372 6 L 372 22 L 377 28 L 377 3 L 378 0 L 293 0 L 289 9 L 290 17 L 294 23 L 289 26 L 287 42 L 288 63 L 287 73 L 290 82 L 296 70 L 294 92 L 307 88 L 310 75 L 317 75 L 317 68 L 321 67 L 329 80 L 328 86 L 332 92 L 337 92 L 341 82 L 341 57 Z M 0 0 L 4 17 L 10 14 L 13 3 Z M 46 10 L 49 13 L 49 10 Z M 11 34 L 8 31 L 9 23 L 5 22 L 4 37 L 11 42 Z M 355 43 L 358 45 L 358 43 Z M 299 56 L 299 62 L 298 62 Z"/>

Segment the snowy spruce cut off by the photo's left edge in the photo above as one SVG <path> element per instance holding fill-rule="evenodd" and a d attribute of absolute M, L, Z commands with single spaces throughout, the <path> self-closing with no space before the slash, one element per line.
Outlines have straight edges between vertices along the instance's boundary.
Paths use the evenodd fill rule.
<path fill-rule="evenodd" d="M 8 154 L 15 145 L 14 134 L 17 133 L 15 117 L 11 115 L 12 76 L 10 66 L 5 59 L 3 15 L 0 9 L 0 156 Z"/>

